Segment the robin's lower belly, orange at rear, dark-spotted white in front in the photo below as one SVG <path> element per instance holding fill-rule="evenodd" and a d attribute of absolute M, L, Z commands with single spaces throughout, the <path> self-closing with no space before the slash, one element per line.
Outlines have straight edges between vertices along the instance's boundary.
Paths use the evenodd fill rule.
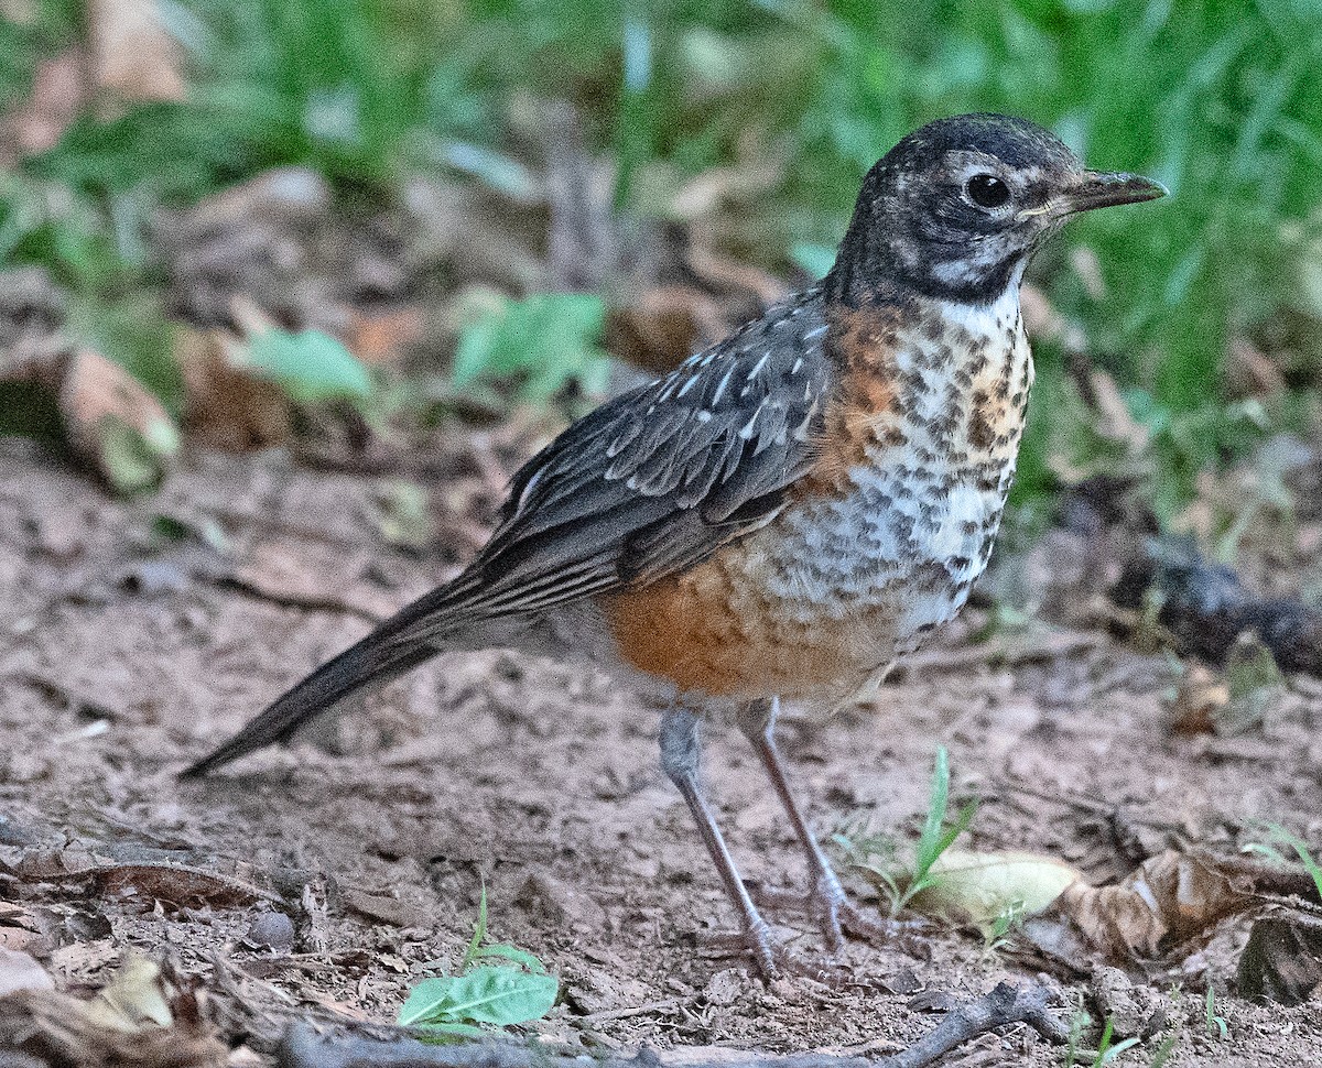
<path fill-rule="evenodd" d="M 999 512 L 972 484 L 937 497 L 878 473 L 600 607 L 623 660 L 681 693 L 841 699 L 954 617 Z"/>

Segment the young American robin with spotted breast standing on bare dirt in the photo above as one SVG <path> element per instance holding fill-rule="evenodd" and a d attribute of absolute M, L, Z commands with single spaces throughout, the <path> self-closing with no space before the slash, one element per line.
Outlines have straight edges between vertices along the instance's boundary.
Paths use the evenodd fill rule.
<path fill-rule="evenodd" d="M 1001 115 L 929 123 L 867 174 L 816 286 L 570 426 L 463 574 L 319 668 L 200 776 L 442 652 L 586 658 L 662 698 L 683 794 L 763 973 L 765 921 L 699 784 L 731 708 L 802 843 L 830 944 L 853 909 L 776 751 L 780 698 L 838 702 L 951 620 L 1014 478 L 1032 358 L 1019 283 L 1073 213 L 1159 197 Z"/>

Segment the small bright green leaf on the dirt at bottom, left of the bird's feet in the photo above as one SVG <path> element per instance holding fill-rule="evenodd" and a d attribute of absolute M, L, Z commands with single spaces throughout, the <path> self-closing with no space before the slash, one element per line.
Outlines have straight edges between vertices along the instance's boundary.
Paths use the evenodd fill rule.
<path fill-rule="evenodd" d="M 506 1027 L 545 1016 L 559 993 L 554 975 L 485 965 L 465 975 L 423 979 L 399 1010 L 399 1023 L 493 1023 Z"/>

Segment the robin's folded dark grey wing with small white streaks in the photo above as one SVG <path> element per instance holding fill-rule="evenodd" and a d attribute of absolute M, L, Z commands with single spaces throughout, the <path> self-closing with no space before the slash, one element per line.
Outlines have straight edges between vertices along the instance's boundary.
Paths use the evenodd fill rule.
<path fill-rule="evenodd" d="M 570 426 L 514 476 L 467 571 L 405 609 L 398 640 L 654 582 L 769 522 L 816 460 L 826 333 L 810 292 Z"/>

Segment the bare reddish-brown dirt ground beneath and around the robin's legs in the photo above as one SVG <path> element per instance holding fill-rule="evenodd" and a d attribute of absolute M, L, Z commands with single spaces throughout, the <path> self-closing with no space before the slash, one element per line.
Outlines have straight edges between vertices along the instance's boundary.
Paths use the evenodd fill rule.
<path fill-rule="evenodd" d="M 464 473 L 457 451 L 453 463 Z M 194 456 L 160 494 L 128 504 L 20 443 L 0 443 L 0 860 L 20 872 L 0 882 L 0 903 L 59 919 L 29 952 L 62 987 L 90 989 L 139 950 L 227 990 L 246 1015 L 226 1036 L 258 1051 L 292 1015 L 389 1022 L 410 985 L 463 953 L 484 883 L 493 934 L 561 977 L 561 1005 L 534 1030 L 587 1049 L 888 1052 L 953 998 L 1038 972 L 1031 957 L 928 927 L 850 942 L 834 961 L 843 982 L 751 979 L 711 937 L 734 916 L 657 765 L 657 710 L 611 679 L 513 653 L 438 661 L 321 730 L 320 745 L 180 785 L 189 760 L 471 546 L 391 549 L 375 521 L 381 478 L 280 452 Z M 440 513 L 447 485 L 435 472 Z M 159 515 L 212 521 L 223 551 L 163 542 Z M 993 668 L 965 640 L 977 623 L 970 613 L 828 722 L 789 710 L 784 752 L 818 829 L 912 829 L 940 743 L 954 796 L 981 800 L 974 847 L 1039 850 L 1097 880 L 1173 843 L 1233 853 L 1260 837 L 1255 820 L 1317 839 L 1322 689 L 1292 685 L 1240 738 L 1173 736 L 1166 658 L 1067 634 L 1056 653 Z M 800 884 L 789 827 L 726 724 L 709 731 L 706 767 L 746 876 Z M 210 882 L 163 903 L 171 895 L 151 890 L 163 863 Z M 132 878 L 61 875 L 98 864 Z M 274 911 L 295 919 L 293 937 L 262 946 Z M 773 919 L 798 958 L 822 957 L 810 923 Z M 1167 1064 L 1322 1063 L 1315 999 L 1285 1009 L 1235 995 L 1247 927 L 1229 921 L 1150 965 L 1149 979 L 1120 981 L 1121 1002 L 1177 1027 Z M 1096 977 L 1051 981 L 1062 1012 L 1087 1003 L 1099 1015 Z M 1208 986 L 1224 1040 L 1208 1034 Z M 1153 1056 L 1154 1043 L 1117 1063 Z M 1010 1028 L 947 1063 L 1062 1061 Z"/>

